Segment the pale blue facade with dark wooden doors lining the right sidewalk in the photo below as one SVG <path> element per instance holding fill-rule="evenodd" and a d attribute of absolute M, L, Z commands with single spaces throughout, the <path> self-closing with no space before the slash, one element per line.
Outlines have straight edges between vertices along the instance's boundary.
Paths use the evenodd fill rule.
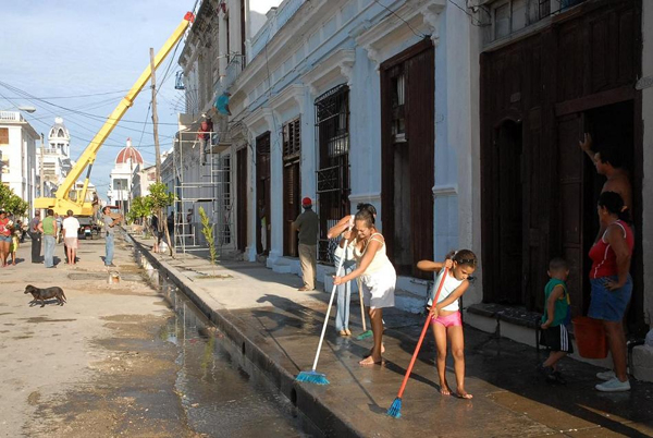
<path fill-rule="evenodd" d="M 578 215 L 583 223 L 595 222 L 593 206 L 558 192 L 582 179 L 567 181 L 556 169 L 583 157 L 577 154 L 578 136 L 564 137 L 575 133 L 568 126 L 601 131 L 602 124 L 614 124 L 631 133 L 627 143 L 640 199 L 634 222 L 642 242 L 636 248 L 629 319 L 633 332 L 652 323 L 649 2 L 226 0 L 205 5 L 211 13 L 202 20 L 200 9 L 181 60 L 187 109 L 210 113 L 215 96 L 231 93 L 232 144 L 221 154 L 230 157 L 234 243 L 247 259 L 262 254 L 275 271 L 299 273 L 289 223 L 299 214 L 299 199 L 310 196 L 320 217 L 319 270 L 328 272 L 333 243 L 326 229 L 366 202 L 379 211 L 377 223 L 399 275 L 398 306 L 421 308 L 428 277 L 415 269 L 419 259 L 442 259 L 465 247 L 480 259 L 475 285 L 465 295 L 467 323 L 494 329 L 494 316 L 470 313 L 482 303 L 539 312 L 540 283 L 556 255 L 571 260 L 570 281 L 578 283 L 579 296 L 575 314 L 580 315 L 589 299 L 587 282 L 578 280 L 586 276 L 587 248 L 574 239 L 582 241 L 582 228 L 569 231 L 569 220 L 547 210 L 564 207 L 565 219 Z M 255 5 L 262 8 L 255 11 Z M 580 33 L 594 23 L 612 27 Z M 644 41 L 641 52 L 633 29 Z M 614 69 L 574 64 L 591 50 L 617 47 L 600 39 L 617 33 L 625 45 L 621 58 L 604 57 Z M 522 44 L 532 47 L 521 49 Z M 538 58 L 546 47 L 562 52 L 574 44 L 577 56 L 558 60 L 558 76 L 551 74 L 549 58 Z M 616 104 L 627 111 L 609 107 Z M 614 117 L 605 119 L 609 111 Z M 501 158 L 502 142 L 523 145 L 522 153 Z M 594 183 L 588 181 L 575 190 L 591 193 Z M 515 248 L 506 244 L 510 241 L 518 242 Z M 502 252 L 506 256 L 497 256 Z M 510 293 L 505 279 L 514 283 Z M 329 276 L 324 280 L 329 287 Z M 533 343 L 534 338 L 529 332 L 515 339 Z"/>

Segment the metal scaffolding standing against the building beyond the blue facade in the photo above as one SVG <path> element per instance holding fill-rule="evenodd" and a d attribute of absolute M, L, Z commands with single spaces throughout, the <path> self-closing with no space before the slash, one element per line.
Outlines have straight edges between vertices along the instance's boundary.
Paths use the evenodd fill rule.
<path fill-rule="evenodd" d="M 173 155 L 174 168 L 174 251 L 206 251 L 199 207 L 209 217 L 218 256 L 233 246 L 231 142 L 215 132 L 180 132 Z M 172 236 L 171 236 L 172 238 Z"/>

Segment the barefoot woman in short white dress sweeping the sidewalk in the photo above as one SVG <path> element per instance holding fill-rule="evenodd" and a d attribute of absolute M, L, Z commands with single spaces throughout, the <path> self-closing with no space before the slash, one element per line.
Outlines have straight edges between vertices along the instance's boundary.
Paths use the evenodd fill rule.
<path fill-rule="evenodd" d="M 344 284 L 360 277 L 365 307 L 372 321 L 374 346 L 369 357 L 360 365 L 381 365 L 383 341 L 383 307 L 394 306 L 394 290 L 397 280 L 394 266 L 385 254 L 385 239 L 374 227 L 374 217 L 368 210 L 360 210 L 355 217 L 356 236 L 359 245 L 354 251 L 358 267 L 344 277 L 334 277 L 333 283 Z"/>

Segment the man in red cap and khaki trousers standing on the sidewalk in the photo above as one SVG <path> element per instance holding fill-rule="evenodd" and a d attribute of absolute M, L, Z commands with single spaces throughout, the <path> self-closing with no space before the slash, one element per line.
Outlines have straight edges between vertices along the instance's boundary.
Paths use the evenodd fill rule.
<path fill-rule="evenodd" d="M 309 197 L 301 199 L 304 212 L 293 222 L 293 230 L 299 232 L 299 264 L 304 285 L 299 291 L 316 289 L 318 264 L 318 215 L 312 210 L 312 200 Z"/>

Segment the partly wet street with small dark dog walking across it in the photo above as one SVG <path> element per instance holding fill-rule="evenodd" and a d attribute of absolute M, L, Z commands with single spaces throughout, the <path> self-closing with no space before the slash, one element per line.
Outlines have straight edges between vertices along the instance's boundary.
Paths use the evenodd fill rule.
<path fill-rule="evenodd" d="M 56 269 L 29 263 L 29 246 L 0 272 L 1 437 L 315 435 L 174 288 L 144 276 L 122 239 L 118 283 L 103 240 L 81 241 L 78 265 Z M 29 306 L 28 283 L 59 285 L 67 303 Z"/>

